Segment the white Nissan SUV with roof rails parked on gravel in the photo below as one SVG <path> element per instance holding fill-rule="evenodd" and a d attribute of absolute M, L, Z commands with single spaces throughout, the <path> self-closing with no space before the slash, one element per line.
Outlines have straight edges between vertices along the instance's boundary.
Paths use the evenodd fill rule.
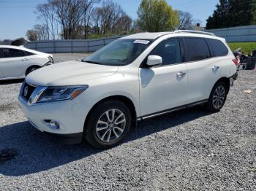
<path fill-rule="evenodd" d="M 35 128 L 112 147 L 140 120 L 203 104 L 218 112 L 237 76 L 235 59 L 212 34 L 134 34 L 82 61 L 34 71 L 18 99 Z"/>

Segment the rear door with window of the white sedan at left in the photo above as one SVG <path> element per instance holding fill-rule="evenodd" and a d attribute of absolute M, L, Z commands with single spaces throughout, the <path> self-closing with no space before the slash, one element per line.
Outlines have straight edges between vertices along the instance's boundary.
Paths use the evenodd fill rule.
<path fill-rule="evenodd" d="M 29 66 L 26 52 L 14 48 L 4 48 L 3 55 L 1 66 L 4 77 L 23 77 L 27 66 Z"/>

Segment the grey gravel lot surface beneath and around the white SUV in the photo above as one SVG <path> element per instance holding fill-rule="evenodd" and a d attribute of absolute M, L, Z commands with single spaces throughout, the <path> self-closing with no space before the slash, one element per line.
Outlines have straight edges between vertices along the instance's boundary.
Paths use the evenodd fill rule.
<path fill-rule="evenodd" d="M 62 145 L 32 128 L 17 105 L 20 83 L 4 82 L 0 150 L 15 157 L 0 157 L 0 190 L 256 190 L 255 74 L 239 71 L 221 112 L 195 107 L 140 122 L 108 150 Z"/>

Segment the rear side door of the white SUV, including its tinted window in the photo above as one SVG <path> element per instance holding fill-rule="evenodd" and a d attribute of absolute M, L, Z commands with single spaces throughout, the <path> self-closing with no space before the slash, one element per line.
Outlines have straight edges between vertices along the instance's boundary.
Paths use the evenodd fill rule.
<path fill-rule="evenodd" d="M 184 37 L 188 68 L 188 101 L 194 103 L 208 99 L 219 79 L 219 64 L 211 58 L 206 39 Z"/>

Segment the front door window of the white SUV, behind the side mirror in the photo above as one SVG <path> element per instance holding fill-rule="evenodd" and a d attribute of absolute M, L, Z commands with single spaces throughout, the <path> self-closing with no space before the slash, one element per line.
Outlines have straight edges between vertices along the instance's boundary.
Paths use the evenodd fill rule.
<path fill-rule="evenodd" d="M 167 39 L 160 42 L 150 55 L 162 57 L 162 66 L 181 63 L 181 50 L 178 39 Z"/>

